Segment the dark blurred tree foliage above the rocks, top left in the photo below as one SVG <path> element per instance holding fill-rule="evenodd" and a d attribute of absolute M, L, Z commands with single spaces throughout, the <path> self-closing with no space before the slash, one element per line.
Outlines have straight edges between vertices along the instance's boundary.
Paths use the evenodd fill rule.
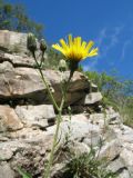
<path fill-rule="evenodd" d="M 18 32 L 33 32 L 42 37 L 43 26 L 32 21 L 22 4 L 11 4 L 0 0 L 0 29 Z"/>

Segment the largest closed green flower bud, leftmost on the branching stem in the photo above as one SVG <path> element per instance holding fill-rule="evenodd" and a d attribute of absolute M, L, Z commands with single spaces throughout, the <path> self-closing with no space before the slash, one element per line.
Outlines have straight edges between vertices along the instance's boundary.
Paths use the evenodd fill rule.
<path fill-rule="evenodd" d="M 34 52 L 37 50 L 37 39 L 33 33 L 29 33 L 27 38 L 27 48 L 31 51 Z"/>

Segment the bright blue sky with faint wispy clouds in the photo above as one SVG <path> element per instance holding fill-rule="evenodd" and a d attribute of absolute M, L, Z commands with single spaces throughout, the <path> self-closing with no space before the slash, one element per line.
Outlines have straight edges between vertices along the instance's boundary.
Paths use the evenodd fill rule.
<path fill-rule="evenodd" d="M 23 3 L 44 24 L 49 43 L 68 33 L 94 40 L 100 53 L 82 62 L 85 70 L 117 70 L 133 79 L 133 0 L 8 0 Z"/>

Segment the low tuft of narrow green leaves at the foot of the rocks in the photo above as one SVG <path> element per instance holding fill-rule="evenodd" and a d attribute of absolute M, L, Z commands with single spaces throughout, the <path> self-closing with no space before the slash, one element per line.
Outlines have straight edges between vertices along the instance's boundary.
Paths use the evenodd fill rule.
<path fill-rule="evenodd" d="M 116 174 L 105 170 L 102 165 L 92 149 L 89 154 L 73 156 L 65 167 L 63 178 L 116 178 Z"/>

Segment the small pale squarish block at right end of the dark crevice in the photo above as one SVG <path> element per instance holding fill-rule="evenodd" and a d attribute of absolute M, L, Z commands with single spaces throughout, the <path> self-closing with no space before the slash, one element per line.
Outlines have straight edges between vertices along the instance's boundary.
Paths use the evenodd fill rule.
<path fill-rule="evenodd" d="M 85 96 L 84 105 L 93 105 L 102 100 L 101 92 L 91 92 Z"/>

